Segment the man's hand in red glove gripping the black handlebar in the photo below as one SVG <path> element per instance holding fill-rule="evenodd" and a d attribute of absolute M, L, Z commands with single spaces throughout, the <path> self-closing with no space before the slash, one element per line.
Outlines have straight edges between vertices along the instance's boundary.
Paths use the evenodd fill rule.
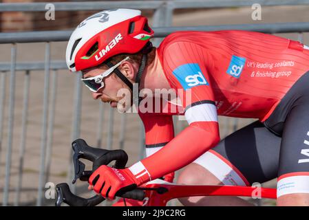
<path fill-rule="evenodd" d="M 116 169 L 102 165 L 89 178 L 89 188 L 107 199 L 115 199 L 116 192 L 127 192 L 138 186 L 138 180 L 128 168 Z"/>

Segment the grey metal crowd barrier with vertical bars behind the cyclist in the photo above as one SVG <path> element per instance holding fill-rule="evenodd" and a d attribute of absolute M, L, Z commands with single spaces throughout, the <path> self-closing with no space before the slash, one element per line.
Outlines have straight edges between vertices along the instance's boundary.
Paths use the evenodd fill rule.
<path fill-rule="evenodd" d="M 87 2 L 59 2 L 54 3 L 56 10 L 100 10 L 103 8 L 137 8 L 137 9 L 152 9 L 155 10 L 153 14 L 153 30 L 155 31 L 156 38 L 167 36 L 171 32 L 178 30 L 251 30 L 264 33 L 283 33 L 283 32 L 298 32 L 299 40 L 301 41 L 301 32 L 309 32 L 309 23 L 270 23 L 264 25 L 217 25 L 217 26 L 198 26 L 198 27 L 170 27 L 173 10 L 178 8 L 223 8 L 231 6 L 246 6 L 252 3 L 260 3 L 261 5 L 309 5 L 308 1 L 87 1 Z M 37 12 L 45 11 L 46 3 L 2 3 L 0 4 L 0 12 L 8 11 L 22 11 L 22 12 Z M 158 28 L 160 27 L 160 28 Z M 169 28 L 167 28 L 169 27 Z M 21 192 L 21 182 L 23 177 L 23 162 L 25 154 L 25 139 L 27 132 L 27 118 L 29 106 L 29 89 L 30 89 L 30 76 L 32 71 L 44 70 L 44 93 L 43 93 L 43 116 L 42 116 L 42 130 L 41 130 L 41 159 L 39 168 L 39 188 L 36 205 L 42 205 L 43 199 L 43 186 L 44 182 L 48 181 L 50 174 L 51 164 L 51 151 L 52 151 L 52 133 L 54 131 L 54 117 L 55 117 L 55 103 L 56 103 L 56 88 L 57 88 L 57 71 L 59 69 L 67 69 L 64 61 L 51 61 L 50 59 L 50 42 L 54 41 L 67 41 L 72 31 L 44 31 L 44 32 L 22 32 L 22 33 L 0 33 L 0 43 L 12 43 L 11 48 L 11 62 L 0 63 L 0 153 L 3 139 L 3 115 L 4 115 L 4 100 L 6 95 L 6 75 L 10 72 L 10 85 L 9 85 L 9 104 L 8 104 L 8 145 L 6 152 L 6 176 L 3 188 L 3 206 L 8 205 L 9 188 L 10 188 L 10 168 L 12 160 L 12 134 L 14 132 L 14 101 L 15 101 L 15 80 L 17 71 L 25 72 L 24 81 L 24 94 L 23 94 L 23 112 L 21 122 L 21 143 L 19 146 L 19 175 L 18 184 L 15 189 L 14 205 L 19 205 L 19 198 Z M 45 61 L 34 63 L 17 63 L 17 45 L 16 43 L 33 43 L 33 42 L 46 42 L 45 43 Z M 156 42 L 158 44 L 158 41 Z M 52 96 L 50 97 L 50 70 L 52 70 Z M 81 129 L 81 74 L 76 74 L 76 83 L 74 91 L 74 111 L 72 114 L 72 140 L 80 136 Z M 50 104 L 51 101 L 51 104 Z M 49 104 L 51 107 L 49 107 Z M 98 131 L 97 131 L 97 146 L 102 146 L 102 138 L 100 135 L 103 133 L 103 112 L 105 108 L 103 103 L 99 105 L 99 118 L 98 118 Z M 106 148 L 112 146 L 112 134 L 114 131 L 114 110 L 109 109 L 109 122 L 107 126 L 107 144 Z M 229 120 L 224 122 L 226 124 L 224 135 L 229 131 Z M 233 129 L 237 129 L 237 120 L 233 120 Z M 120 137 L 119 148 L 124 148 L 125 144 L 125 124 L 126 115 L 122 114 L 120 120 Z M 184 124 L 175 121 L 175 131 L 180 131 Z M 140 158 L 144 155 L 144 129 L 140 124 Z M 72 168 L 68 172 L 68 179 L 71 178 Z M 73 188 L 74 190 L 74 188 Z"/>

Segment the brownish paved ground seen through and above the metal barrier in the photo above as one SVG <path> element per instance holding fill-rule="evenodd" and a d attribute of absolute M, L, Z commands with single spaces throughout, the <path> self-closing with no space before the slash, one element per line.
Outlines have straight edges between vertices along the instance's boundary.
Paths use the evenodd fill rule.
<path fill-rule="evenodd" d="M 308 21 L 309 7 L 306 6 L 284 6 L 262 8 L 262 21 L 253 21 L 251 19 L 251 8 L 230 8 L 222 10 L 198 10 L 195 12 L 177 14 L 173 17 L 173 25 L 222 25 L 239 23 L 274 23 L 274 22 L 297 22 Z M 297 39 L 297 34 L 277 34 L 290 39 Z M 308 34 L 303 34 L 304 43 L 309 43 Z M 0 45 L 0 62 L 10 61 L 11 45 Z M 51 43 L 52 60 L 65 59 L 66 43 Z M 19 43 L 17 44 L 17 61 L 31 62 L 44 61 L 45 43 Z M 67 70 L 61 70 L 58 74 L 58 86 L 56 88 L 56 114 L 54 118 L 54 132 L 52 142 L 52 153 L 47 154 L 51 157 L 50 176 L 48 181 L 54 184 L 67 181 L 67 173 L 71 162 L 70 151 L 72 142 L 72 112 L 75 78 Z M 0 203 L 3 198 L 3 186 L 5 180 L 6 153 L 8 146 L 8 85 L 9 76 L 6 74 L 6 100 L 3 122 L 3 137 L 1 139 L 0 150 Z M 17 72 L 15 89 L 15 111 L 14 111 L 14 138 L 12 147 L 12 166 L 10 168 L 10 204 L 14 202 L 15 188 L 19 177 L 19 147 L 21 145 L 21 119 L 23 110 L 23 83 L 24 72 Z M 43 117 L 43 72 L 31 72 L 30 83 L 30 103 L 27 120 L 27 136 L 25 142 L 25 154 L 23 155 L 23 178 L 21 203 L 34 204 L 37 197 L 37 188 L 39 185 L 39 166 L 41 157 L 41 132 Z M 92 100 L 87 88 L 83 87 L 82 95 L 82 118 L 81 118 L 81 136 L 87 140 L 91 146 L 96 146 L 98 134 L 98 101 Z M 109 121 L 109 106 L 104 104 L 104 124 L 102 137 L 103 147 L 107 142 L 107 124 Z M 220 117 L 221 137 L 233 131 L 235 119 Z M 237 129 L 253 122 L 251 119 L 238 120 Z M 226 126 L 226 123 L 228 125 Z M 128 114 L 125 123 L 125 151 L 129 155 L 131 165 L 140 158 L 140 120 L 136 114 Z M 176 131 L 181 131 L 186 122 L 178 122 Z M 227 129 L 226 129 L 227 128 Z M 114 113 L 114 133 L 112 136 L 112 148 L 119 147 L 120 133 L 120 114 Z M 78 183 L 78 186 L 83 184 Z M 266 184 L 269 187 L 275 187 L 275 181 Z M 51 204 L 51 200 L 45 201 Z M 52 201 L 54 202 L 54 201 Z M 178 204 L 178 203 L 176 203 Z M 266 205 L 273 205 L 274 201 L 265 201 Z"/>

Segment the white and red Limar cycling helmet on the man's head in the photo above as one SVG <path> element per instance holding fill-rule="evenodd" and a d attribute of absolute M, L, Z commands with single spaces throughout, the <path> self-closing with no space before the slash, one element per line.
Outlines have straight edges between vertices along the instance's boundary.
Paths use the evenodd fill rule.
<path fill-rule="evenodd" d="M 135 54 L 149 45 L 154 32 L 140 10 L 112 9 L 82 21 L 67 44 L 66 63 L 72 72 L 95 67 L 118 54 Z"/>

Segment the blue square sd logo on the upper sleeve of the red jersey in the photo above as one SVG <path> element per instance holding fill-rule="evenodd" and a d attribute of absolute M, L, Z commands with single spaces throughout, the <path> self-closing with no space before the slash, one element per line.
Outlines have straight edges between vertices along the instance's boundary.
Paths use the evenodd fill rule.
<path fill-rule="evenodd" d="M 209 85 L 198 63 L 187 63 L 173 70 L 173 75 L 184 90 L 198 85 Z"/>

